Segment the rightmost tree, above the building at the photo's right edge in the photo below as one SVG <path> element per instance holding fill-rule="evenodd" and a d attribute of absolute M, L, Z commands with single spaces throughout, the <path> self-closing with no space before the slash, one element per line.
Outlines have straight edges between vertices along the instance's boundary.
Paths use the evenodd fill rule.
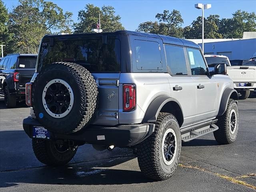
<path fill-rule="evenodd" d="M 220 20 L 219 32 L 224 38 L 242 38 L 243 32 L 256 31 L 256 14 L 237 10 L 233 18 Z"/>

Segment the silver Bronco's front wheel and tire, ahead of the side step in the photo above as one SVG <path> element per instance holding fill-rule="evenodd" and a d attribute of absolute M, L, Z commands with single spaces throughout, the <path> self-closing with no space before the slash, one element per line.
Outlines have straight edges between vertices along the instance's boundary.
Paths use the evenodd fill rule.
<path fill-rule="evenodd" d="M 236 101 L 229 99 L 226 112 L 217 118 L 218 122 L 216 125 L 219 129 L 213 132 L 215 140 L 220 144 L 230 144 L 234 142 L 238 134 L 239 126 L 238 106 Z"/>

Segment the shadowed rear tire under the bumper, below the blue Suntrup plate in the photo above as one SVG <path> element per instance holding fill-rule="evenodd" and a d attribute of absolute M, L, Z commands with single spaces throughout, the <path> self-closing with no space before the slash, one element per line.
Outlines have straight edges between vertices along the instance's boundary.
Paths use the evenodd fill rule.
<path fill-rule="evenodd" d="M 43 164 L 62 166 L 70 162 L 77 148 L 70 150 L 67 146 L 55 144 L 50 140 L 32 139 L 32 147 L 36 158 Z"/>

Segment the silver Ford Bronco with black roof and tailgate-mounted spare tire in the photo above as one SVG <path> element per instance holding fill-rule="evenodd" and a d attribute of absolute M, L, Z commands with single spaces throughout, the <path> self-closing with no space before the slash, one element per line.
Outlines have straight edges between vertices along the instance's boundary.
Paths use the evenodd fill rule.
<path fill-rule="evenodd" d="M 238 134 L 238 94 L 226 64 L 209 72 L 193 42 L 131 31 L 46 35 L 26 84 L 23 120 L 44 164 L 67 164 L 78 146 L 134 148 L 149 178 L 170 178 L 182 141 Z"/>

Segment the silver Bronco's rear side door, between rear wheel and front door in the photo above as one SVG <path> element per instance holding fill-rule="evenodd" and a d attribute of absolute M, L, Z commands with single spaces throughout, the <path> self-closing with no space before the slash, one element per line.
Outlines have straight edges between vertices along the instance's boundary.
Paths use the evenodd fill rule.
<path fill-rule="evenodd" d="M 183 127 L 194 124 L 196 113 L 196 86 L 193 78 L 188 75 L 185 48 L 181 46 L 164 45 L 168 65 L 168 80 L 171 96 L 181 105 L 184 123 Z"/>

